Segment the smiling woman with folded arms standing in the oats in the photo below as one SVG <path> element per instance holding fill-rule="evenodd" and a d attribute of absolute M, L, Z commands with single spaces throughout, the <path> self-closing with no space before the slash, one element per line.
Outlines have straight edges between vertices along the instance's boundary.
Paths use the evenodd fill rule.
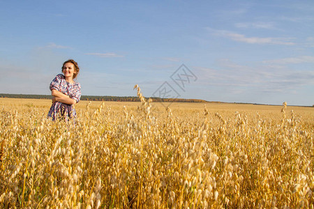
<path fill-rule="evenodd" d="M 50 84 L 52 95 L 52 106 L 48 113 L 48 118 L 52 121 L 62 118 L 75 118 L 76 111 L 74 105 L 80 101 L 81 85 L 73 79 L 77 77 L 80 68 L 73 59 L 65 61 L 62 65 L 62 74 L 57 75 Z"/>

